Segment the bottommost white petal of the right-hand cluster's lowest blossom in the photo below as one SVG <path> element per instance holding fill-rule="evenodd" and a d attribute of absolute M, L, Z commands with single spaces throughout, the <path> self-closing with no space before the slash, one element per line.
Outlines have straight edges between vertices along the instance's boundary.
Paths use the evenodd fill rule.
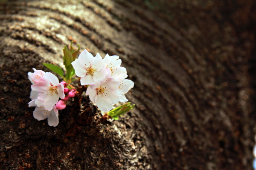
<path fill-rule="evenodd" d="M 110 111 L 113 107 L 111 99 L 106 96 L 97 95 L 95 98 L 95 104 L 101 111 Z"/>

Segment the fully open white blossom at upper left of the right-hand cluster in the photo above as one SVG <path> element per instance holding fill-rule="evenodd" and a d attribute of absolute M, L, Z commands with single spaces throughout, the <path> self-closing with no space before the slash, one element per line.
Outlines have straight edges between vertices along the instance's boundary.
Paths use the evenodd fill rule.
<path fill-rule="evenodd" d="M 93 85 L 96 81 L 104 79 L 107 74 L 106 65 L 99 53 L 93 57 L 87 50 L 84 50 L 71 64 L 76 75 L 81 77 L 81 85 Z"/>

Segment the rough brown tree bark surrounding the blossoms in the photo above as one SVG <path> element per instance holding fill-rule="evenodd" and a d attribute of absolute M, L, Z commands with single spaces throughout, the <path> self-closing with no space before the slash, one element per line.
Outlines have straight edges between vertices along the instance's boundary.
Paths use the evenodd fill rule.
<path fill-rule="evenodd" d="M 254 9 L 253 0 L 3 3 L 0 169 L 252 170 Z M 134 111 L 97 125 L 83 95 L 57 127 L 33 118 L 27 72 L 63 66 L 71 40 L 120 56 Z"/>

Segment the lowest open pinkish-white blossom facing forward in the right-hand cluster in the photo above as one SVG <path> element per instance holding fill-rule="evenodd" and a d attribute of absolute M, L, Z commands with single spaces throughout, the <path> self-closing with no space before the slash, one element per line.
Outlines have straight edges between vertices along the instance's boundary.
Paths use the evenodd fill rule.
<path fill-rule="evenodd" d="M 110 111 L 113 104 L 119 102 L 121 94 L 118 90 L 119 82 L 115 78 L 106 77 L 87 88 L 86 95 L 101 111 Z"/>

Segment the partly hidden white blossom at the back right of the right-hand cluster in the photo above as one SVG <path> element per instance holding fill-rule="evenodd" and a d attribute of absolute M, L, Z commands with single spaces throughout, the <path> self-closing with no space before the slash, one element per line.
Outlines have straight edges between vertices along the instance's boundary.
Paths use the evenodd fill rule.
<path fill-rule="evenodd" d="M 120 66 L 122 60 L 119 59 L 119 56 L 109 56 L 107 54 L 103 62 L 107 65 L 107 68 L 110 68 L 111 77 L 121 81 L 127 77 L 126 68 Z"/>

